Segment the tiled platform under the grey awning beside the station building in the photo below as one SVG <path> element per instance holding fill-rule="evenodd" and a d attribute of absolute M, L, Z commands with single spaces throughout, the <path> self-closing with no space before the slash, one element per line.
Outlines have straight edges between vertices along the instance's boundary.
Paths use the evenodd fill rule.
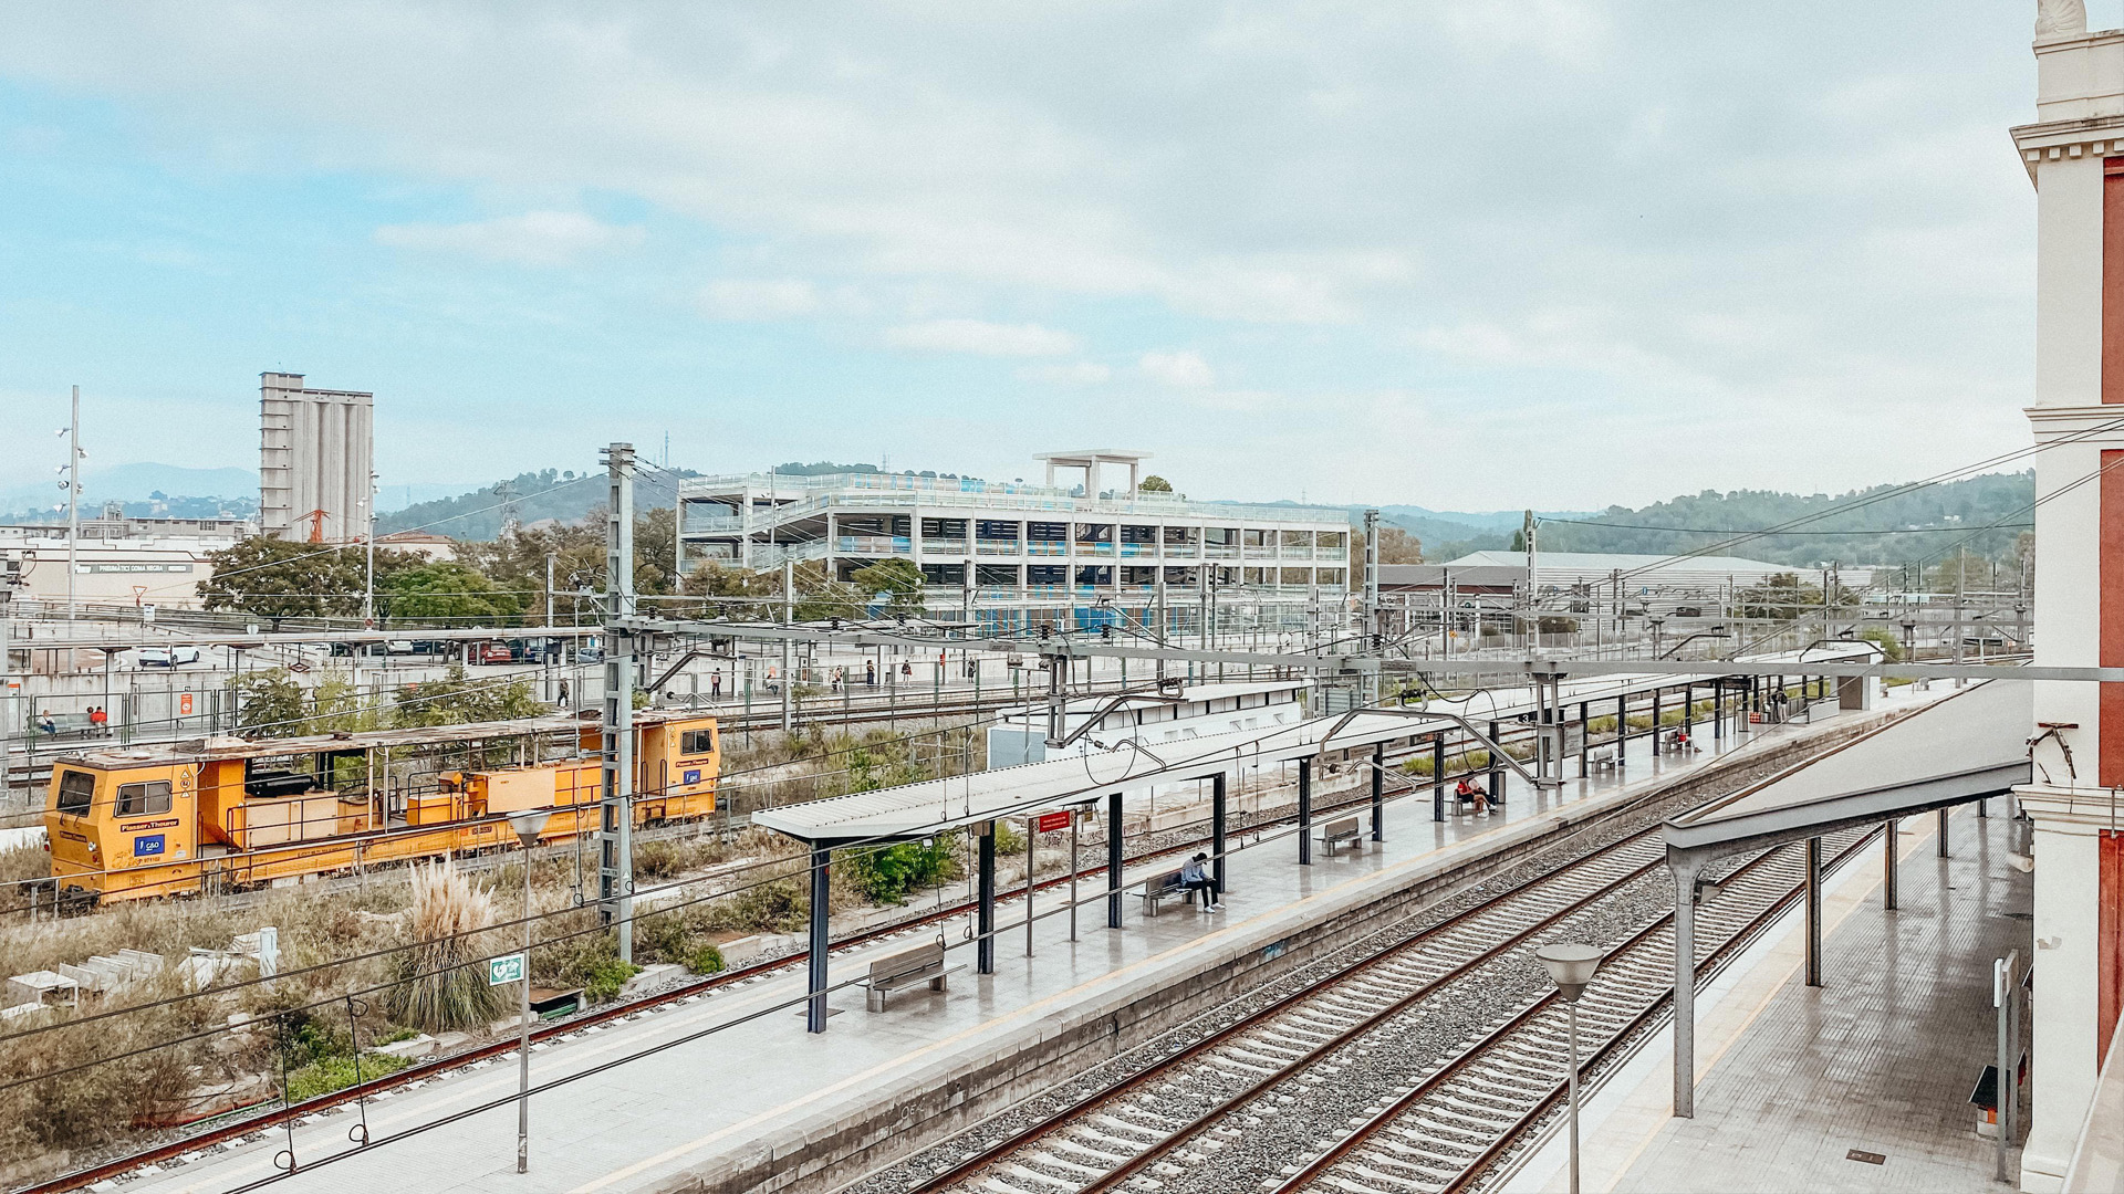
<path fill-rule="evenodd" d="M 1695 1118 L 1672 1115 L 1665 1028 L 1587 1098 L 1585 1190 L 2001 1188 L 1969 1103 L 1997 1058 L 1992 958 L 2031 952 L 2033 877 L 2007 858 L 2001 803 L 1990 818 L 1956 809 L 1946 858 L 1935 818 L 1903 822 L 1895 911 L 1878 841 L 1825 884 L 1822 986 L 1805 986 L 1797 909 L 1712 979 L 1697 994 Z M 1563 1139 L 1504 1188 L 1568 1190 Z"/>

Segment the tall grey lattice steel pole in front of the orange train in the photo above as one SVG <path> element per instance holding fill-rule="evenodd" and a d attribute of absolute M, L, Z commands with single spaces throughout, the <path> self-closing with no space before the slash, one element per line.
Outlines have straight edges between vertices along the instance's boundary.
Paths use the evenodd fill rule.
<path fill-rule="evenodd" d="M 597 809 L 597 916 L 616 924 L 620 960 L 635 960 L 635 637 L 618 618 L 635 614 L 635 446 L 603 450 L 605 506 L 605 727 Z"/>

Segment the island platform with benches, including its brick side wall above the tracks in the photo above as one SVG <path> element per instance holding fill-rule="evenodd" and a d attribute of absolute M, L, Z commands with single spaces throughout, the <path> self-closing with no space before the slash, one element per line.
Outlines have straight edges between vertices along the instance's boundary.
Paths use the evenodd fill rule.
<path fill-rule="evenodd" d="M 1387 805 L 1383 843 L 1315 854 L 1313 865 L 1296 863 L 1287 835 L 1240 839 L 1228 860 L 1223 914 L 1181 907 L 1149 918 L 1130 899 L 1124 928 L 1111 931 L 1104 888 L 1087 882 L 1070 941 L 1066 888 L 1047 890 L 1037 901 L 1030 956 L 1024 897 L 1009 892 L 1005 875 L 996 971 L 954 973 L 941 994 L 909 990 L 871 1013 L 860 990 L 839 986 L 875 956 L 935 939 L 937 928 L 924 926 L 833 956 L 828 1033 L 805 1030 L 807 975 L 796 958 L 709 996 L 535 1045 L 529 1175 L 514 1173 L 516 1056 L 508 1054 L 359 1109 L 312 1115 L 291 1135 L 274 1130 L 195 1154 L 121 1188 L 242 1190 L 274 1179 L 285 1149 L 297 1171 L 270 1190 L 828 1188 L 1183 1024 L 1209 1003 L 1330 956 L 1470 869 L 1555 843 L 1606 809 L 1720 763 L 1767 771 L 1778 756 L 1793 756 L 1799 739 L 1871 724 L 1926 699 L 1899 693 L 1873 712 L 1718 741 L 1706 735 L 1699 754 L 1640 752 L 1625 769 L 1565 780 L 1559 790 L 1514 784 L 1491 818 L 1434 822 L 1425 790 Z M 1126 882 L 1172 865 L 1132 867 Z M 969 928 L 966 918 L 945 926 L 952 960 L 973 954 Z M 348 1128 L 361 1118 L 372 1143 L 353 1149 Z"/>

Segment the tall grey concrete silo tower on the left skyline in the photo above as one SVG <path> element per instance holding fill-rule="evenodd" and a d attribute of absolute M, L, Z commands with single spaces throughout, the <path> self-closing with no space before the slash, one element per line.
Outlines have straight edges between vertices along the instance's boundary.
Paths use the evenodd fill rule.
<path fill-rule="evenodd" d="M 259 374 L 259 527 L 278 540 L 370 533 L 376 395 L 306 389 L 302 374 Z"/>

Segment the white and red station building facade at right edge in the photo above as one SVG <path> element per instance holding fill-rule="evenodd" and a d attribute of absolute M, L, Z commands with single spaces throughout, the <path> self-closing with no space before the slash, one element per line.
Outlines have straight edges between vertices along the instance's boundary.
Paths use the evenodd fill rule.
<path fill-rule="evenodd" d="M 2035 185 L 2035 642 L 2039 667 L 2124 667 L 2124 30 L 2043 0 Z M 2124 1007 L 2124 684 L 2037 682 L 2035 1016 L 2022 1190 L 2062 1190 Z M 2105 1130 L 2094 1126 L 2094 1130 Z M 2116 1130 L 2111 1124 L 2109 1132 Z"/>

